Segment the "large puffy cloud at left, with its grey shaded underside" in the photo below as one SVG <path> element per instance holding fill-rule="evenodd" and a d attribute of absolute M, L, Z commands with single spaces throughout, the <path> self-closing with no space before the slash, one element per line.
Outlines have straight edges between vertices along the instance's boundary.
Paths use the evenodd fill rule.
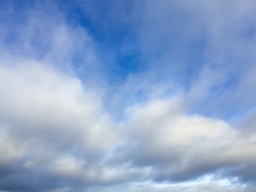
<path fill-rule="evenodd" d="M 15 172 L 32 177 L 42 169 L 38 177 L 70 178 L 83 166 L 97 165 L 118 141 L 97 94 L 86 91 L 78 78 L 27 61 L 1 66 L 0 74 L 1 122 L 8 128 L 1 129 L 1 153 L 14 162 L 10 167 L 18 164 Z"/>

